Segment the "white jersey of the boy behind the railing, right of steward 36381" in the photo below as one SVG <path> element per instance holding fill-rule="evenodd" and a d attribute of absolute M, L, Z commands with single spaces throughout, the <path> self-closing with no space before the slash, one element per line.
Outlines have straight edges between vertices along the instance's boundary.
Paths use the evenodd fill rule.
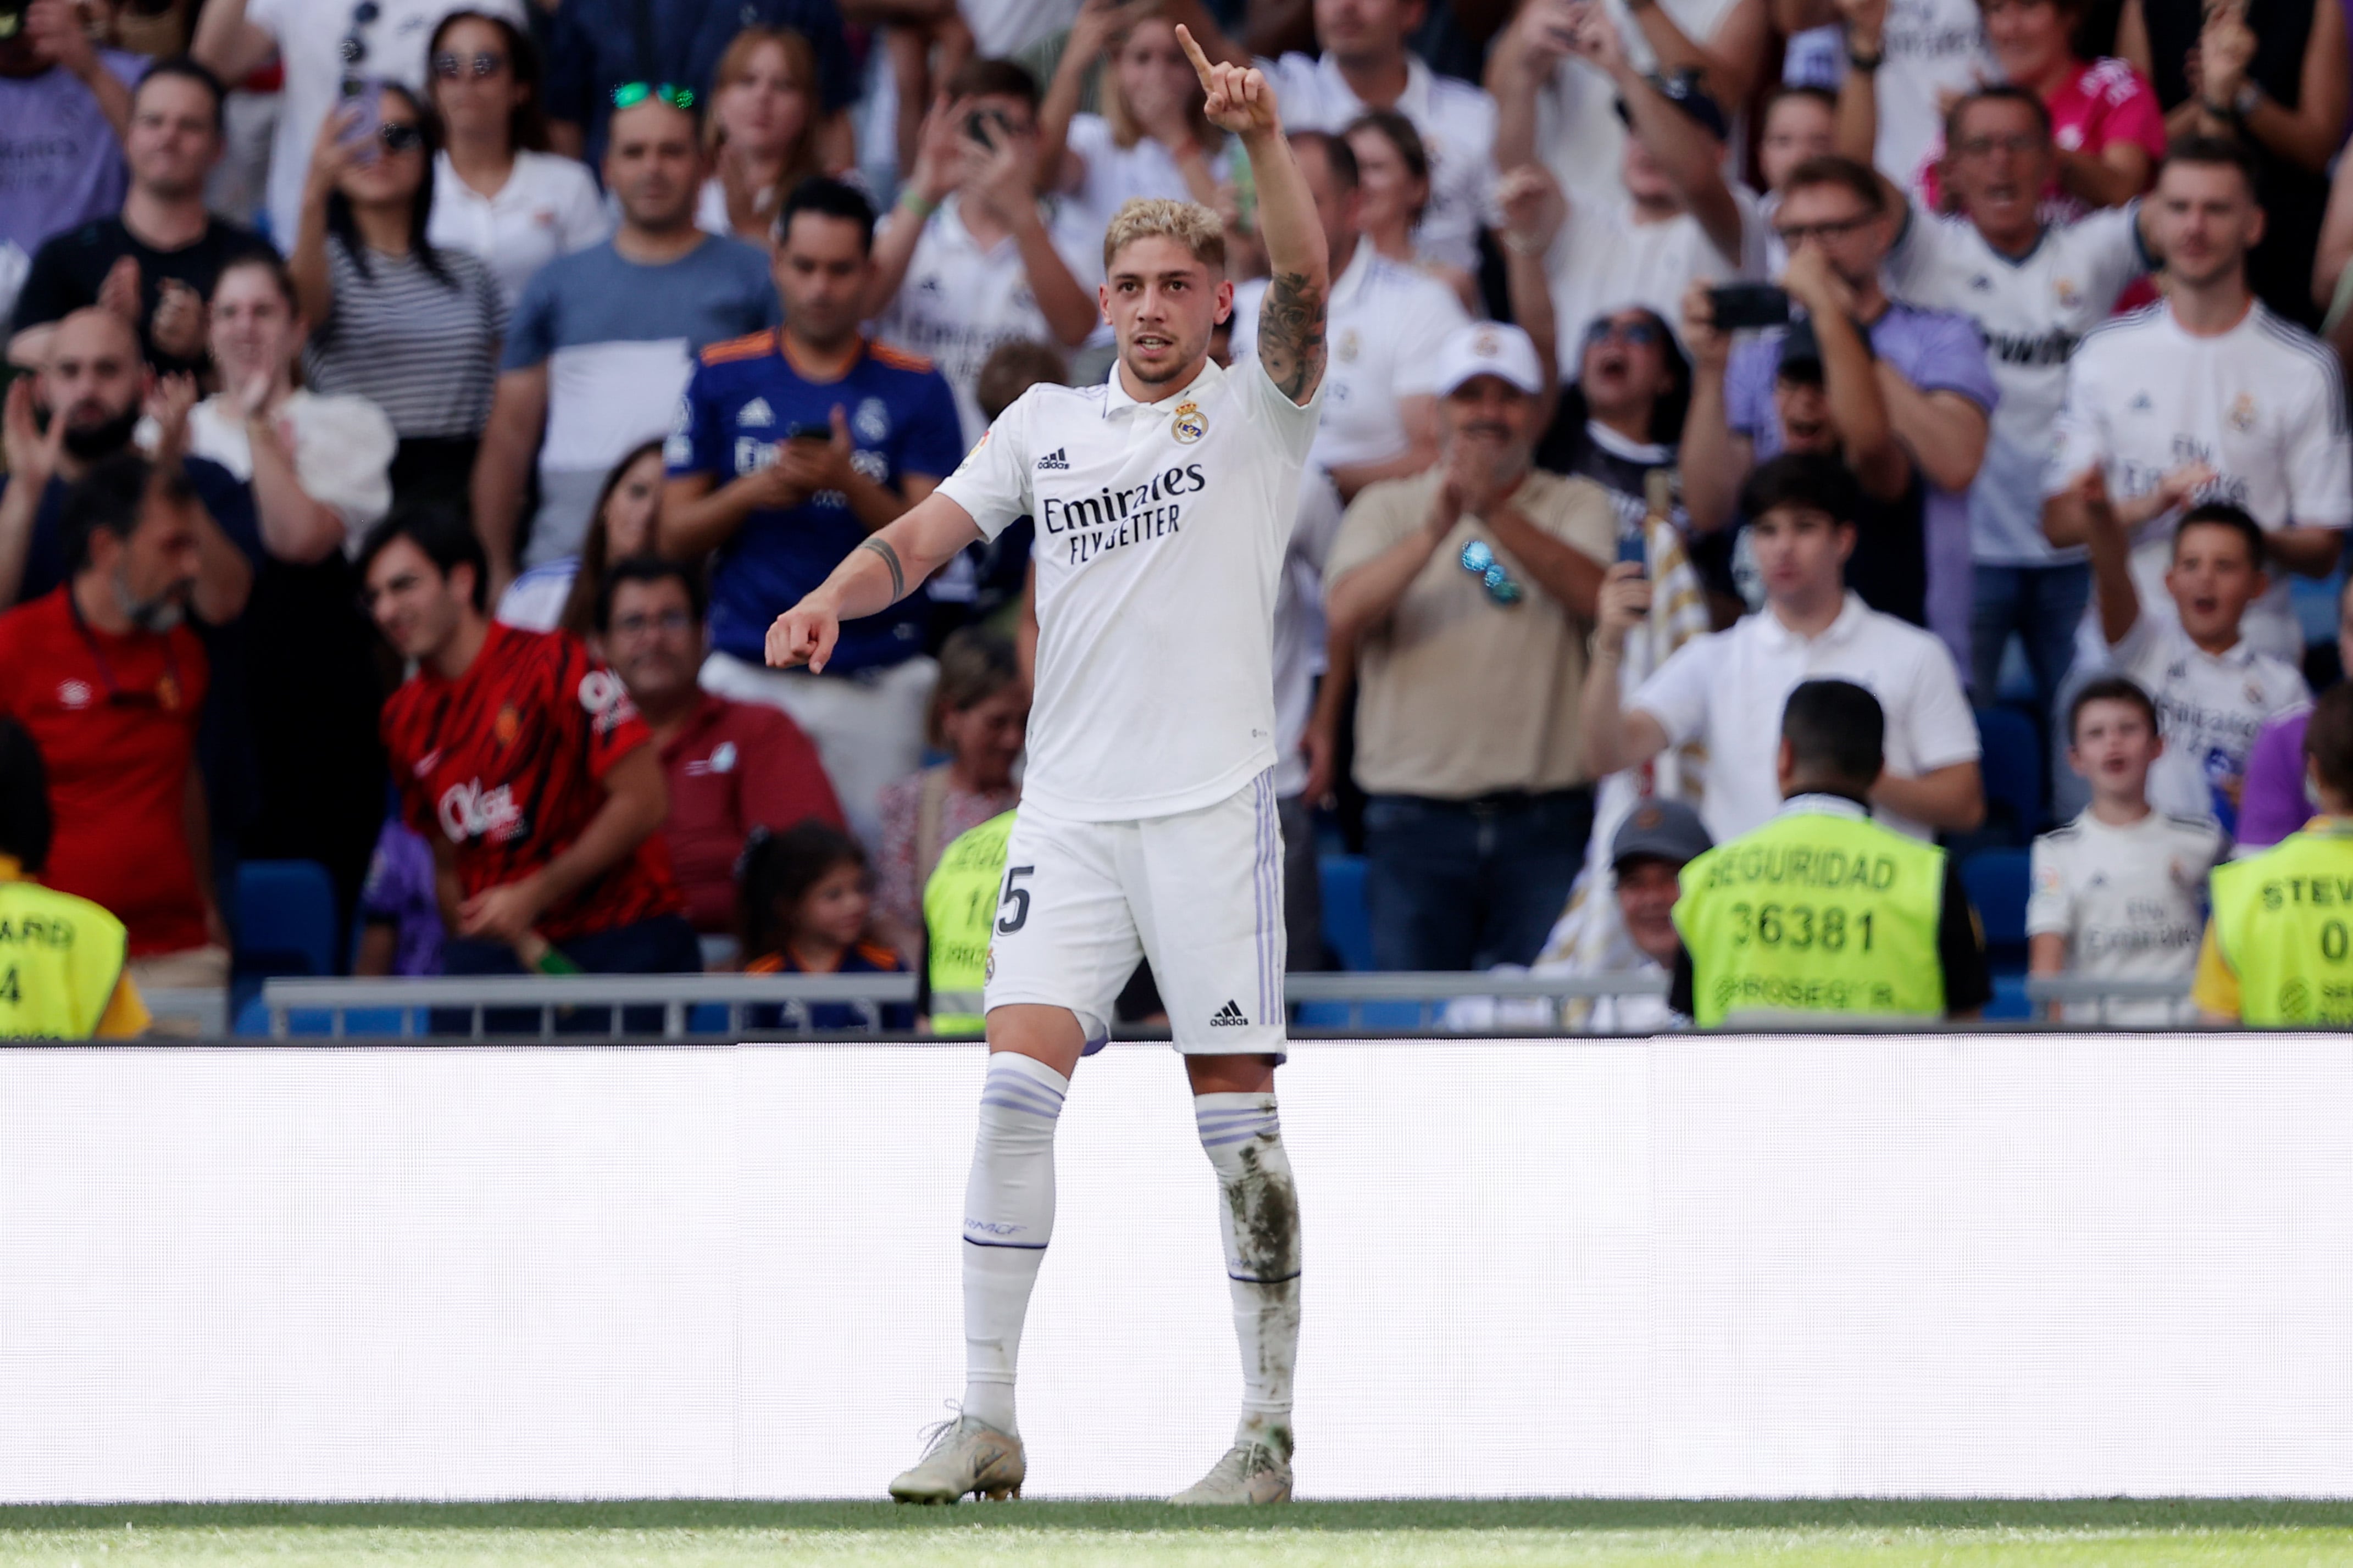
<path fill-rule="evenodd" d="M 2224 856 L 2212 820 L 2151 811 L 2111 827 L 2089 811 L 2035 839 L 2026 933 L 2064 936 L 2066 973 L 2099 980 L 2188 980 L 2205 933 L 2207 872 Z M 2092 1020 L 2097 1004 L 2073 1004 Z M 2111 1004 L 2113 1023 L 2169 1023 L 2169 1004 Z"/>

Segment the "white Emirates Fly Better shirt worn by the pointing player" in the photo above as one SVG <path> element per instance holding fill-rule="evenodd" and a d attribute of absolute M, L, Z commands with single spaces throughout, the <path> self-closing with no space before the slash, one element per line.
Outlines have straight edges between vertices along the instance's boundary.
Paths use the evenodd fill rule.
<path fill-rule="evenodd" d="M 1275 588 L 1322 397 L 1214 362 L 1174 397 L 1033 386 L 939 494 L 1038 529 L 1026 804 L 1082 823 L 1217 804 L 1275 764 Z"/>

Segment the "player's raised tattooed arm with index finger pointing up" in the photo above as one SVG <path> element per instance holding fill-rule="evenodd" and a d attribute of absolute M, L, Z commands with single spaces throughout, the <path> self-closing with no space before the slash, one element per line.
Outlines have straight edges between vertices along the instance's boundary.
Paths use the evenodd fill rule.
<path fill-rule="evenodd" d="M 1176 42 L 1209 94 L 1209 125 L 1242 139 L 1249 176 L 1259 186 L 1259 237 L 1271 273 L 1259 303 L 1259 364 L 1285 397 L 1306 404 L 1322 386 L 1325 296 L 1332 292 L 1322 219 L 1282 136 L 1273 85 L 1257 68 L 1209 61 L 1184 26 Z"/>

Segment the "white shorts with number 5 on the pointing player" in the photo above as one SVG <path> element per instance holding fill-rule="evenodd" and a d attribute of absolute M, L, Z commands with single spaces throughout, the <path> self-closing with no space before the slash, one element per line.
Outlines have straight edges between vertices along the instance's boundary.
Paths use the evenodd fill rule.
<path fill-rule="evenodd" d="M 1273 769 L 1214 806 L 1132 823 L 1021 804 L 986 1004 L 1068 1009 L 1094 1048 L 1139 959 L 1153 964 L 1179 1051 L 1285 1053 Z"/>

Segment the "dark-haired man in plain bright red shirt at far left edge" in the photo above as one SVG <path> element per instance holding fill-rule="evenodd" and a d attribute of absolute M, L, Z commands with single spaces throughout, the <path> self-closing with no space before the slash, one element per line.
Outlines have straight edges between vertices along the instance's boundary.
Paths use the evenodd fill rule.
<path fill-rule="evenodd" d="M 49 766 L 45 882 L 129 929 L 139 990 L 221 987 L 228 933 L 209 886 L 195 769 L 212 684 L 188 625 L 200 508 L 176 475 L 118 454 L 66 494 L 68 581 L 0 616 L 0 715 Z"/>

